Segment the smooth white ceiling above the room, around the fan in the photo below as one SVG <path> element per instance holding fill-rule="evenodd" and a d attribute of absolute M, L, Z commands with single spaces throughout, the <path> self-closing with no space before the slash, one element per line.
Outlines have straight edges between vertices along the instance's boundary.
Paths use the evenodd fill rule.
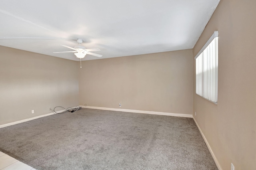
<path fill-rule="evenodd" d="M 220 0 L 1 0 L 0 45 L 79 61 L 81 38 L 101 58 L 191 49 Z M 71 50 L 72 51 L 72 50 Z M 83 60 L 98 59 L 86 55 Z"/>

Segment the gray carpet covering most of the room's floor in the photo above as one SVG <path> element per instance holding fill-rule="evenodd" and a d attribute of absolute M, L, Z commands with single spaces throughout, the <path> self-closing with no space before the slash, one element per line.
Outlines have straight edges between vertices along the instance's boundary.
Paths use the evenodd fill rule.
<path fill-rule="evenodd" d="M 192 118 L 81 109 L 0 128 L 38 170 L 218 170 Z"/>

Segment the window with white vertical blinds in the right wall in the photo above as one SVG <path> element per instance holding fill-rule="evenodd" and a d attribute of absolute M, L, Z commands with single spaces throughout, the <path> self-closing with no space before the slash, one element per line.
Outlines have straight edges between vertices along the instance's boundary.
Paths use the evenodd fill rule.
<path fill-rule="evenodd" d="M 196 94 L 217 104 L 218 101 L 218 31 L 212 34 L 196 59 Z"/>

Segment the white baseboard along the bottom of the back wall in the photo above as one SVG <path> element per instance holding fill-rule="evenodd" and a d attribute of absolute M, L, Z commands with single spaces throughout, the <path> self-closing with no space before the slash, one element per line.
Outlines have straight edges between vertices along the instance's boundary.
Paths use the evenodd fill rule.
<path fill-rule="evenodd" d="M 94 106 L 80 106 L 80 107 L 87 108 L 87 109 L 99 109 L 99 110 L 108 110 L 108 111 L 121 111 L 121 112 L 130 112 L 130 113 L 145 113 L 145 114 L 151 114 L 151 115 L 166 115 L 166 116 L 189 117 L 189 118 L 193 117 L 193 115 L 179 114 L 179 113 L 139 111 L 139 110 L 131 110 L 131 109 L 115 109 L 115 108 L 94 107 Z"/>

